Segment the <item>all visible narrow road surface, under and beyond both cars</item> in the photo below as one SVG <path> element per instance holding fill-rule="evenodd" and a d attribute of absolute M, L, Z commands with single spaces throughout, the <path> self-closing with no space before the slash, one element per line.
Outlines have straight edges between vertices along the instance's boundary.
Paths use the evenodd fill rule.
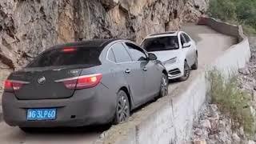
<path fill-rule="evenodd" d="M 235 38 L 219 34 L 207 26 L 195 26 L 188 24 L 183 26 L 182 30 L 194 38 L 198 46 L 199 70 L 214 61 L 214 58 L 222 54 L 226 49 L 235 43 Z M 193 81 L 197 71 L 192 71 L 188 82 Z M 184 86 L 187 82 L 173 82 L 170 84 L 170 93 L 178 87 Z M 171 95 L 171 94 L 170 94 Z M 146 108 L 145 108 L 146 109 Z M 0 143 L 1 144 L 91 144 L 100 136 L 102 131 L 108 129 L 105 127 L 85 127 L 82 129 L 59 129 L 37 132 L 34 134 L 25 134 L 18 127 L 7 126 L 5 122 L 0 122 Z"/>

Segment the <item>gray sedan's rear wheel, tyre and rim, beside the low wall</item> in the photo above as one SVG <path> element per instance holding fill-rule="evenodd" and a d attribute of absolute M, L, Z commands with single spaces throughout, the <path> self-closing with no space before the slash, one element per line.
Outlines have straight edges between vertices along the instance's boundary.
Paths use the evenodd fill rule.
<path fill-rule="evenodd" d="M 118 124 L 125 122 L 130 117 L 130 102 L 126 92 L 123 90 L 118 91 L 117 108 L 114 118 L 114 123 Z"/>

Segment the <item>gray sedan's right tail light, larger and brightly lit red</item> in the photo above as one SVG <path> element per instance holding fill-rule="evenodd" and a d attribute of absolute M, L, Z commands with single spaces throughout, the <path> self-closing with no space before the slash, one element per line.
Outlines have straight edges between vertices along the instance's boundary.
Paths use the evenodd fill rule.
<path fill-rule="evenodd" d="M 101 80 L 102 74 L 90 74 L 74 78 L 60 79 L 55 82 L 63 82 L 67 89 L 86 89 L 97 86 Z"/>

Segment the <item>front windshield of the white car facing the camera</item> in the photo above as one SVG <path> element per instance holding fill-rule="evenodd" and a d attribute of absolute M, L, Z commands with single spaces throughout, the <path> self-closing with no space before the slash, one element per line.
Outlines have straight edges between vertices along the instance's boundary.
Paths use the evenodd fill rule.
<path fill-rule="evenodd" d="M 142 47 L 147 51 L 177 50 L 178 37 L 168 36 L 160 38 L 147 38 L 142 43 Z"/>

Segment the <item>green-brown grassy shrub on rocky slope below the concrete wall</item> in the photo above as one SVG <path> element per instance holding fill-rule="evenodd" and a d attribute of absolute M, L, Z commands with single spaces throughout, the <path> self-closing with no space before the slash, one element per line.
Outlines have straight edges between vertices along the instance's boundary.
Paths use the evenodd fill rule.
<path fill-rule="evenodd" d="M 218 70 L 210 70 L 207 74 L 210 81 L 211 102 L 218 105 L 222 113 L 227 114 L 234 122 L 244 127 L 246 134 L 255 133 L 255 119 L 250 112 L 250 94 L 238 88 L 235 74 L 225 78 Z"/>

